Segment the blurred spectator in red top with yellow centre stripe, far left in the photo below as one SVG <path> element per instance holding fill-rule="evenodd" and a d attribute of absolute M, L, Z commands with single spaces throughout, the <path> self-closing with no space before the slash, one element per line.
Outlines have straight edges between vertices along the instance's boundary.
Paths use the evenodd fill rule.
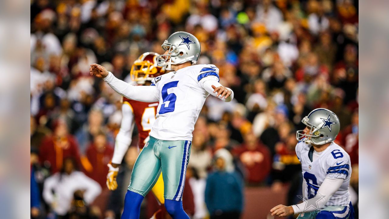
<path fill-rule="evenodd" d="M 61 170 L 63 160 L 67 157 L 74 157 L 81 164 L 77 141 L 69 134 L 66 122 L 58 120 L 54 123 L 54 134 L 42 141 L 39 161 L 53 174 Z"/>

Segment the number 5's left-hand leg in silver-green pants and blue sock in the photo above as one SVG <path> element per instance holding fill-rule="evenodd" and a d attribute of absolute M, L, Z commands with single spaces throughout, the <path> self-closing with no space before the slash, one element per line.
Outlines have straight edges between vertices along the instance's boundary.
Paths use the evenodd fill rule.
<path fill-rule="evenodd" d="M 161 160 L 154 154 L 155 142 L 155 138 L 150 138 L 149 144 L 143 148 L 134 164 L 130 185 L 124 200 L 122 219 L 139 218 L 140 204 L 161 173 Z M 129 207 L 130 205 L 135 205 L 136 208 Z"/>

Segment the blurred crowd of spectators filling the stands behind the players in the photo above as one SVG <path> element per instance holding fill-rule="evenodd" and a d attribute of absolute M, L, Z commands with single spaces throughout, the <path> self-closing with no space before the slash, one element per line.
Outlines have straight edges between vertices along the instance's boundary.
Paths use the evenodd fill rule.
<path fill-rule="evenodd" d="M 219 67 L 221 83 L 235 92 L 228 103 L 208 97 L 196 123 L 188 214 L 215 213 L 207 207 L 240 214 L 244 187 L 290 188 L 284 204 L 297 203 L 296 130 L 314 108 L 340 118 L 336 143 L 350 154 L 358 191 L 357 1 L 32 0 L 32 218 L 120 218 L 137 132 L 119 189 L 108 191 L 121 97 L 89 76 L 89 65 L 128 81 L 133 61 L 147 51 L 162 54 L 176 31 L 199 39 L 199 63 Z M 146 199 L 142 217 L 156 205 Z"/>

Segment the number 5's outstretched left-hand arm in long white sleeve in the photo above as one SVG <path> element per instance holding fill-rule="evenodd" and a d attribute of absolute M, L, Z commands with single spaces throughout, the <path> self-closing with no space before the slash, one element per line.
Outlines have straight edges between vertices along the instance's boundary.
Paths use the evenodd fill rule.
<path fill-rule="evenodd" d="M 111 72 L 107 71 L 103 66 L 98 64 L 91 64 L 89 73 L 98 78 L 102 78 L 110 87 L 112 87 L 112 89 L 124 97 L 142 102 L 159 101 L 159 92 L 155 86 L 130 85 L 117 79 Z"/>

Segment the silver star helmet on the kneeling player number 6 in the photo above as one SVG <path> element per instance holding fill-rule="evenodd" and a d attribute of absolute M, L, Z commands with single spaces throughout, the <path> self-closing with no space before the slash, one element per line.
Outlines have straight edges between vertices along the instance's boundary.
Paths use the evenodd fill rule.
<path fill-rule="evenodd" d="M 338 116 L 328 109 L 318 108 L 310 112 L 301 122 L 310 129 L 309 133 L 299 130 L 296 133 L 298 141 L 322 145 L 334 141 L 340 130 Z"/>

